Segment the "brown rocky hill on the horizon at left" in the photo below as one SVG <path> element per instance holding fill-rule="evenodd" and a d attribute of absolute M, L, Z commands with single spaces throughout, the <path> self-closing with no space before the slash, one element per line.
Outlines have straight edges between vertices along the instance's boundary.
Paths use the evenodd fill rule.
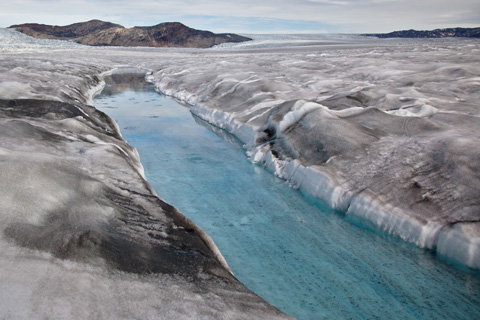
<path fill-rule="evenodd" d="M 91 46 L 209 48 L 225 42 L 252 40 L 232 33 L 215 34 L 196 30 L 179 22 L 128 29 L 100 20 L 62 27 L 28 23 L 13 25 L 10 28 L 35 38 L 72 40 Z"/>

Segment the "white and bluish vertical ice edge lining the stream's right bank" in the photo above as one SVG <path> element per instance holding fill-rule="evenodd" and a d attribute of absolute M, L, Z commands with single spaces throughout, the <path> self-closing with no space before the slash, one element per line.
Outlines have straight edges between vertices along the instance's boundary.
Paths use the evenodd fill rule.
<path fill-rule="evenodd" d="M 369 191 L 352 194 L 326 169 L 319 166 L 305 167 L 298 160 L 280 160 L 270 150 L 257 146 L 255 140 L 260 128 L 239 123 L 234 114 L 197 103 L 201 97 L 167 89 L 152 72 L 147 72 L 145 79 L 155 85 L 157 92 L 187 104 L 194 115 L 242 141 L 253 163 L 262 164 L 305 195 L 345 212 L 347 219 L 429 249 L 447 261 L 480 269 L 480 234 L 478 228 L 474 228 L 474 222 L 442 225 L 435 221 L 422 221 L 413 212 L 393 207 Z"/>

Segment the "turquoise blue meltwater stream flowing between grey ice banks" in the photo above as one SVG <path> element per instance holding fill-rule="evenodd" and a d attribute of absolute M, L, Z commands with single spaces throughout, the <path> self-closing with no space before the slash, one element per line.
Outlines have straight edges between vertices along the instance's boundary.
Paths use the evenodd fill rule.
<path fill-rule="evenodd" d="M 147 180 L 215 241 L 235 276 L 298 319 L 480 319 L 480 273 L 348 222 L 252 164 L 238 141 L 153 87 L 96 107 Z"/>

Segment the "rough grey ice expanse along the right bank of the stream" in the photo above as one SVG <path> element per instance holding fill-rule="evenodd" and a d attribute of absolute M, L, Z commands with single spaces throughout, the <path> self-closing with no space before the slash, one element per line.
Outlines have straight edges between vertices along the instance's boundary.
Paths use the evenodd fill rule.
<path fill-rule="evenodd" d="M 480 268 L 480 43 L 209 51 L 157 89 L 361 223 Z"/>

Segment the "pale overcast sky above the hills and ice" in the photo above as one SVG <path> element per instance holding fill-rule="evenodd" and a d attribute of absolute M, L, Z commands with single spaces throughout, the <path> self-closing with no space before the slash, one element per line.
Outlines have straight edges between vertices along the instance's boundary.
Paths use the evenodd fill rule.
<path fill-rule="evenodd" d="M 236 33 L 367 33 L 480 26 L 480 0 L 1 0 L 0 27 L 92 19 L 125 27 L 179 21 Z"/>

